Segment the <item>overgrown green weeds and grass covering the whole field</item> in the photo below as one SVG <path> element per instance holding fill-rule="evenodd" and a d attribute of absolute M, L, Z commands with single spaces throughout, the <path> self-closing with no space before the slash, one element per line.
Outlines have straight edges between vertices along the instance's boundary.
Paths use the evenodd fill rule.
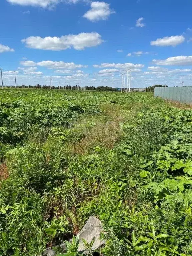
<path fill-rule="evenodd" d="M 4 90 L 0 106 L 0 255 L 42 255 L 91 215 L 102 256 L 192 255 L 191 110 L 56 90 Z"/>

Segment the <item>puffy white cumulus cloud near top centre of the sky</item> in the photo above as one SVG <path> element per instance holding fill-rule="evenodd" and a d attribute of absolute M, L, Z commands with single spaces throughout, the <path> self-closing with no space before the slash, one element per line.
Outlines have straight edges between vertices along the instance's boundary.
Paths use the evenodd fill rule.
<path fill-rule="evenodd" d="M 110 4 L 97 1 L 91 3 L 91 9 L 83 17 L 90 21 L 107 20 L 112 13 L 115 11 L 110 9 Z"/>

